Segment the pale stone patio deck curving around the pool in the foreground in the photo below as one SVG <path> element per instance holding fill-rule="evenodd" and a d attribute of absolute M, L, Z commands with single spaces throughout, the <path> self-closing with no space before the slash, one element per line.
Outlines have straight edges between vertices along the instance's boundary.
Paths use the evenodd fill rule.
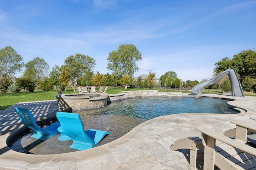
<path fill-rule="evenodd" d="M 184 97 L 188 95 L 182 94 Z M 255 97 L 246 96 L 242 98 L 214 94 L 204 94 L 202 96 L 232 99 L 233 101 L 229 101 L 228 104 L 241 109 L 242 112 L 238 114 L 181 113 L 156 117 L 138 125 L 123 137 L 108 144 L 88 150 L 51 155 L 31 155 L 10 150 L 6 145 L 6 139 L 10 132 L 22 127 L 20 122 L 17 121 L 13 130 L 11 129 L 10 132 L 0 135 L 0 167 L 4 169 L 30 168 L 44 170 L 56 168 L 81 170 L 84 168 L 193 169 L 182 152 L 169 149 L 174 141 L 183 137 L 201 136 L 194 129 L 198 125 L 204 125 L 223 133 L 235 127 L 230 123 L 230 120 L 242 120 L 252 125 L 256 124 L 255 121 L 250 119 L 250 117 L 256 116 Z M 28 104 L 28 107 L 31 106 Z M 38 109 L 40 110 L 40 108 Z M 50 105 L 49 109 L 56 112 L 65 108 Z M 54 114 L 52 110 L 49 110 L 48 113 Z M 6 125 L 11 124 L 12 119 L 16 120 L 17 118 L 12 112 L 0 111 L 0 115 L 8 115 L 7 117 L 10 119 Z M 2 119 L 0 123 L 1 121 Z M 200 163 L 202 162 L 198 162 L 198 169 L 202 166 Z"/>

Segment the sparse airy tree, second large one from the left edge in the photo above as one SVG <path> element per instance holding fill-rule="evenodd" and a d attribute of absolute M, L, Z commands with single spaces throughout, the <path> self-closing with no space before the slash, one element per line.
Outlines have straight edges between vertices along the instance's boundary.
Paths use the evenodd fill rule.
<path fill-rule="evenodd" d="M 23 77 L 29 77 L 36 80 L 37 86 L 43 77 L 47 76 L 49 64 L 43 59 L 36 57 L 32 61 L 25 64 L 26 69 L 23 72 Z"/>

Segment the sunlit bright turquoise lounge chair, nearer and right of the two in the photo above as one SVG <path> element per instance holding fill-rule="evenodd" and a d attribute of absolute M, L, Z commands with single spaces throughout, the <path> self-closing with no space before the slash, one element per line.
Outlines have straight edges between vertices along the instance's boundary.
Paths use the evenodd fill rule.
<path fill-rule="evenodd" d="M 96 147 L 100 141 L 109 135 L 108 131 L 89 129 L 84 131 L 84 125 L 78 113 L 58 112 L 57 118 L 60 121 L 62 133 L 72 138 L 73 143 L 70 148 L 77 150 L 90 149 Z"/>

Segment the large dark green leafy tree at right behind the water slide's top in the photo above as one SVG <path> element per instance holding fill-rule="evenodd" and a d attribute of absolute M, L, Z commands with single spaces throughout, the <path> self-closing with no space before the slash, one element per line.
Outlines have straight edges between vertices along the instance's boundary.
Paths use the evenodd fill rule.
<path fill-rule="evenodd" d="M 223 58 L 215 63 L 215 66 L 214 72 L 216 74 L 233 67 L 239 76 L 256 76 L 256 51 L 254 49 L 243 50 L 234 55 L 232 59 Z"/>

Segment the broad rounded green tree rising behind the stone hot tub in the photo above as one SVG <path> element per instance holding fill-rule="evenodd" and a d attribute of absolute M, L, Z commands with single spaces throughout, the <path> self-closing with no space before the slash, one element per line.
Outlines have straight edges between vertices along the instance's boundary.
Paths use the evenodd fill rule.
<path fill-rule="evenodd" d="M 64 63 L 66 64 L 64 67 L 68 67 L 68 72 L 71 74 L 71 79 L 74 82 L 78 82 L 79 77 L 88 71 L 92 71 L 92 68 L 95 66 L 93 58 L 82 54 L 70 55 L 65 59 Z"/>

